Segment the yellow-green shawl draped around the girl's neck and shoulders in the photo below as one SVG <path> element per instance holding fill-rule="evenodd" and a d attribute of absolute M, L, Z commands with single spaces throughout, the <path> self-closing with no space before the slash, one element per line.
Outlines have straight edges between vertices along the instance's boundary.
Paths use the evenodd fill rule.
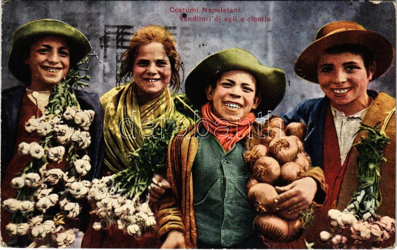
<path fill-rule="evenodd" d="M 161 123 L 162 118 L 179 119 L 185 121 L 187 126 L 192 124 L 191 120 L 175 110 L 168 88 L 154 100 L 139 107 L 134 84 L 130 83 L 105 93 L 101 97 L 101 104 L 104 111 L 104 164 L 113 172 L 130 165 L 128 153 L 142 147 L 143 137 L 150 135 L 154 127 L 165 124 L 164 120 Z"/>

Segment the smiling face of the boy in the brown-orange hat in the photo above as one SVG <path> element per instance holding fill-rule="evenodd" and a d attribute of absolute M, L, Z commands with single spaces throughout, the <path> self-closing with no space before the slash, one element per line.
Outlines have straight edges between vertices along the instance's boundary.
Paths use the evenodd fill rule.
<path fill-rule="evenodd" d="M 375 72 L 375 62 L 367 72 L 362 56 L 344 52 L 323 54 L 317 65 L 320 87 L 335 109 L 348 116 L 368 107 L 367 87 Z"/>

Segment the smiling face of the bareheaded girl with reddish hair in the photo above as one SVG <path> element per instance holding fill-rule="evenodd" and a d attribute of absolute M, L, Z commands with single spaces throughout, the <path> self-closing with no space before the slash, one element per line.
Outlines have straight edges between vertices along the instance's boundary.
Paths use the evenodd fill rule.
<path fill-rule="evenodd" d="M 161 43 L 139 46 L 133 63 L 133 79 L 140 103 L 151 101 L 164 91 L 171 80 L 171 64 Z"/>

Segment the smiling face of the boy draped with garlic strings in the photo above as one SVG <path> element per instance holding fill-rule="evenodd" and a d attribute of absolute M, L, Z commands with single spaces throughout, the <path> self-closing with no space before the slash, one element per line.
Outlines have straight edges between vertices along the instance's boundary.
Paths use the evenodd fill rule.
<path fill-rule="evenodd" d="M 31 71 L 31 90 L 52 90 L 69 71 L 69 46 L 66 39 L 46 36 L 35 40 L 24 62 Z"/>

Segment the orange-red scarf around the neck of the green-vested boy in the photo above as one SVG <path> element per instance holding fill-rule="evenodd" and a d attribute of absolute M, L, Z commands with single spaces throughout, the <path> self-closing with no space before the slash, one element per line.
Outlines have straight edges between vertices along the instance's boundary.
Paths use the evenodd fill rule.
<path fill-rule="evenodd" d="M 237 121 L 226 121 L 224 119 L 218 121 L 219 118 L 212 113 L 209 102 L 201 107 L 201 114 L 202 118 L 206 119 L 206 123 L 202 124 L 215 136 L 226 152 L 229 151 L 236 142 L 242 140 L 251 132 L 252 123 L 255 121 L 255 115 L 252 112 L 248 113 L 246 117 L 241 118 L 238 123 L 236 123 Z M 249 124 L 247 122 L 249 122 Z"/>

